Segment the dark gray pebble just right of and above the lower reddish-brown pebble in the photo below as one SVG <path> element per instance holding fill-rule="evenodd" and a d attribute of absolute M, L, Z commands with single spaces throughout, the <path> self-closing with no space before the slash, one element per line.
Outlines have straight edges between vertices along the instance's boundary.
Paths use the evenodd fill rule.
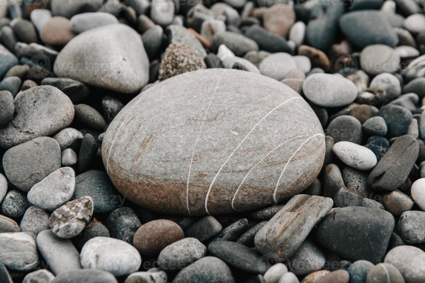
<path fill-rule="evenodd" d="M 214 216 L 205 216 L 184 231 L 186 237 L 197 238 L 201 243 L 204 243 L 220 233 L 223 229 L 220 222 Z"/>

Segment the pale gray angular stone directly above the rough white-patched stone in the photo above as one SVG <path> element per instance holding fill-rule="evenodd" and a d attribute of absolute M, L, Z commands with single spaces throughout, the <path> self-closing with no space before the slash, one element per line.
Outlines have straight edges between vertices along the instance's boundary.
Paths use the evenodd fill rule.
<path fill-rule="evenodd" d="M 72 198 L 74 189 L 74 170 L 71 167 L 62 167 L 32 186 L 27 198 L 31 204 L 53 211 Z"/>

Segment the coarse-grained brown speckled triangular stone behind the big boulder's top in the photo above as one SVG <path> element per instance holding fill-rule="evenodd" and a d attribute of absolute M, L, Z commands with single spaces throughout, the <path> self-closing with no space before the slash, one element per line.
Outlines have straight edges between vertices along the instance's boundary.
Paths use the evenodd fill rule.
<path fill-rule="evenodd" d="M 158 78 L 163 81 L 182 73 L 206 68 L 204 59 L 192 46 L 184 43 L 173 43 L 168 45 L 164 51 Z"/>

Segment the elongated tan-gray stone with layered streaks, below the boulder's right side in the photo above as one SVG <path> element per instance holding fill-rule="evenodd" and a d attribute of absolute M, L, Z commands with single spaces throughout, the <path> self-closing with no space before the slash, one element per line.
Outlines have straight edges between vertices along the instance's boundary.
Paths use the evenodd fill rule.
<path fill-rule="evenodd" d="M 294 196 L 255 235 L 254 243 L 263 254 L 275 252 L 282 261 L 291 257 L 307 235 L 332 208 L 334 202 L 323 196 Z"/>

